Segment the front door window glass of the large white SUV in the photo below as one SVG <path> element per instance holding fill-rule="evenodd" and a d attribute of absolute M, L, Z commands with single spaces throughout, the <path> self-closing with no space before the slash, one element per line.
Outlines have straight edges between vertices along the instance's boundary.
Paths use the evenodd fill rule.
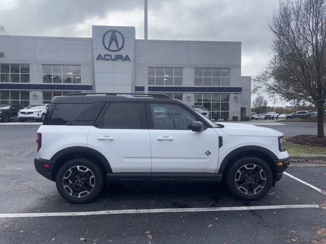
<path fill-rule="evenodd" d="M 154 129 L 191 130 L 196 117 L 174 104 L 150 104 Z"/>

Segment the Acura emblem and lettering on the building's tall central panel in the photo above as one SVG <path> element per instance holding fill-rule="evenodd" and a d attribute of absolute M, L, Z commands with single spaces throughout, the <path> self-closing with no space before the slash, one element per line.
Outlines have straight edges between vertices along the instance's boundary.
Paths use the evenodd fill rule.
<path fill-rule="evenodd" d="M 121 32 L 111 29 L 104 33 L 102 37 L 103 47 L 111 52 L 120 51 L 124 46 L 124 36 Z M 110 61 L 130 61 L 128 55 L 122 54 L 98 54 L 96 60 Z"/>

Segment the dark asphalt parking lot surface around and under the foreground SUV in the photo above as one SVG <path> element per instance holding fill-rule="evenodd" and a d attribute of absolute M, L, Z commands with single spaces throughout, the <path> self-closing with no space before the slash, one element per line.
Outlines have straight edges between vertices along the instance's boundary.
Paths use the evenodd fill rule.
<path fill-rule="evenodd" d="M 223 184 L 142 183 L 110 185 L 89 204 L 68 203 L 55 183 L 34 169 L 37 128 L 0 127 L 8 138 L 0 141 L 0 215 L 67 212 L 77 216 L 0 218 L 0 243 L 307 243 L 326 239 L 320 235 L 326 228 L 326 210 L 319 206 L 325 204 L 326 196 L 287 175 L 263 199 L 253 202 L 235 199 Z M 326 167 L 290 167 L 287 172 L 326 188 Z M 179 212 L 180 208 L 186 209 Z M 128 214 L 126 209 L 151 212 Z M 123 211 L 97 212 L 106 210 Z M 78 214 L 84 211 L 94 213 Z"/>

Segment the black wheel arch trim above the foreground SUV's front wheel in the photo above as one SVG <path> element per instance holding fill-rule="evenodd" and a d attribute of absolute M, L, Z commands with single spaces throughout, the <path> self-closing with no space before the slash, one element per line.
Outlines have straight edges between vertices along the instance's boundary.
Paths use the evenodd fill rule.
<path fill-rule="evenodd" d="M 222 175 L 224 173 L 224 169 L 226 167 L 226 165 L 228 164 L 228 162 L 237 154 L 239 153 L 246 153 L 246 151 L 257 151 L 259 153 L 263 153 L 266 154 L 267 156 L 269 156 L 271 159 L 273 160 L 278 160 L 278 157 L 273 153 L 273 151 L 268 150 L 265 147 L 262 146 L 241 146 L 238 147 L 236 149 L 234 149 L 233 151 L 231 151 L 222 161 L 221 166 L 219 168 L 218 174 Z"/>

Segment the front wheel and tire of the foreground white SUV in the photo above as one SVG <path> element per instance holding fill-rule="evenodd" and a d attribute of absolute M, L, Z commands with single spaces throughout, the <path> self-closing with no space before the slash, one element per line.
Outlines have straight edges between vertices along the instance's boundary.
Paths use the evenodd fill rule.
<path fill-rule="evenodd" d="M 246 167 L 249 169 L 246 169 Z M 244 175 L 246 171 L 243 169 L 247 170 L 249 177 Z M 263 172 L 260 169 L 263 170 Z M 253 173 L 254 177 L 251 177 L 251 172 Z M 261 173 L 258 175 L 258 173 L 255 172 Z M 258 200 L 265 196 L 269 192 L 273 183 L 273 173 L 271 172 L 268 164 L 265 161 L 255 157 L 247 157 L 237 160 L 230 167 L 226 176 L 227 186 L 233 196 L 247 201 Z M 263 179 L 262 176 L 264 176 L 265 179 Z M 243 187 L 240 186 L 241 184 Z M 250 184 L 252 184 L 251 188 L 249 187 Z M 257 186 L 254 191 L 252 186 Z M 246 188 L 248 189 L 246 190 Z"/>

